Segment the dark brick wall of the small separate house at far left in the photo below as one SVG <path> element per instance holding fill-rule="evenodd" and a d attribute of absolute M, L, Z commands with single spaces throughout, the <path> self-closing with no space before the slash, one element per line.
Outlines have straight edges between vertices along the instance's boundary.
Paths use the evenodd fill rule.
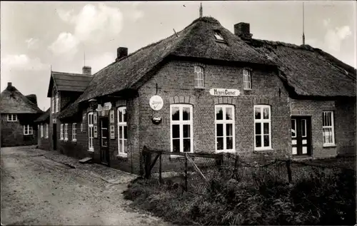
<path fill-rule="evenodd" d="M 1 147 L 13 147 L 37 144 L 37 127 L 33 127 L 32 135 L 24 135 L 24 125 L 18 120 L 8 122 L 7 114 L 1 114 Z"/>

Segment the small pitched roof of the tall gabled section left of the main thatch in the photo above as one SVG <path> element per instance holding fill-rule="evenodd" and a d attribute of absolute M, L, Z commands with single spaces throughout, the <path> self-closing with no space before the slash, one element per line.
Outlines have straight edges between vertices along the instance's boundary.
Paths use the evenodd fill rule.
<path fill-rule="evenodd" d="M 51 91 L 56 86 L 57 91 L 75 91 L 83 92 L 89 85 L 93 76 L 80 73 L 65 73 L 51 71 L 51 80 L 49 82 L 49 91 L 47 97 L 51 97 Z"/>

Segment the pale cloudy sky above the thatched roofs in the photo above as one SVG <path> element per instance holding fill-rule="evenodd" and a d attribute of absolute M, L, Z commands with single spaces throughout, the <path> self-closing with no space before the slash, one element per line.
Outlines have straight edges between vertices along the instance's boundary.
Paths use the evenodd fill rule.
<path fill-rule="evenodd" d="M 12 82 L 36 94 L 46 111 L 51 68 L 92 73 L 129 53 L 181 31 L 198 18 L 200 1 L 1 1 L 1 91 Z M 202 1 L 233 32 L 249 23 L 253 38 L 302 43 L 303 1 Z M 356 1 L 304 1 L 306 44 L 356 68 Z M 84 61 L 85 56 L 85 61 Z"/>

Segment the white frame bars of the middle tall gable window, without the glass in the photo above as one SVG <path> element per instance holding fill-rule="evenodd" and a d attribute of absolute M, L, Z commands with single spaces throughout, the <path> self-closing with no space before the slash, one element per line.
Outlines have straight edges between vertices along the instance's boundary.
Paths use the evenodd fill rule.
<path fill-rule="evenodd" d="M 232 119 L 226 120 L 226 119 L 220 119 L 217 120 L 217 108 L 222 108 L 223 111 L 223 118 L 226 118 L 226 109 L 227 108 L 231 108 L 232 109 Z M 214 125 L 215 125 L 215 143 L 216 143 L 216 153 L 221 153 L 221 152 L 225 152 L 225 153 L 234 153 L 236 152 L 236 125 L 235 125 L 235 110 L 234 110 L 234 106 L 233 105 L 216 105 L 214 106 Z M 223 149 L 222 150 L 217 150 L 217 124 L 223 124 L 223 136 L 220 138 L 223 138 Z M 232 149 L 227 149 L 227 135 L 226 135 L 226 126 L 227 124 L 232 124 Z"/>

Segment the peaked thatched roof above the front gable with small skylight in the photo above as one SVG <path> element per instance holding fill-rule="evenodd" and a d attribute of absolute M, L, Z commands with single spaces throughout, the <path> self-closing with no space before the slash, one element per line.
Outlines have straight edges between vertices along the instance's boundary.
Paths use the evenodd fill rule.
<path fill-rule="evenodd" d="M 216 41 L 219 31 L 226 43 Z M 86 91 L 77 103 L 97 96 L 134 88 L 149 71 L 159 65 L 166 56 L 188 56 L 210 60 L 248 62 L 273 65 L 241 38 L 223 28 L 211 17 L 196 19 L 182 31 L 129 54 L 94 74 Z"/>

